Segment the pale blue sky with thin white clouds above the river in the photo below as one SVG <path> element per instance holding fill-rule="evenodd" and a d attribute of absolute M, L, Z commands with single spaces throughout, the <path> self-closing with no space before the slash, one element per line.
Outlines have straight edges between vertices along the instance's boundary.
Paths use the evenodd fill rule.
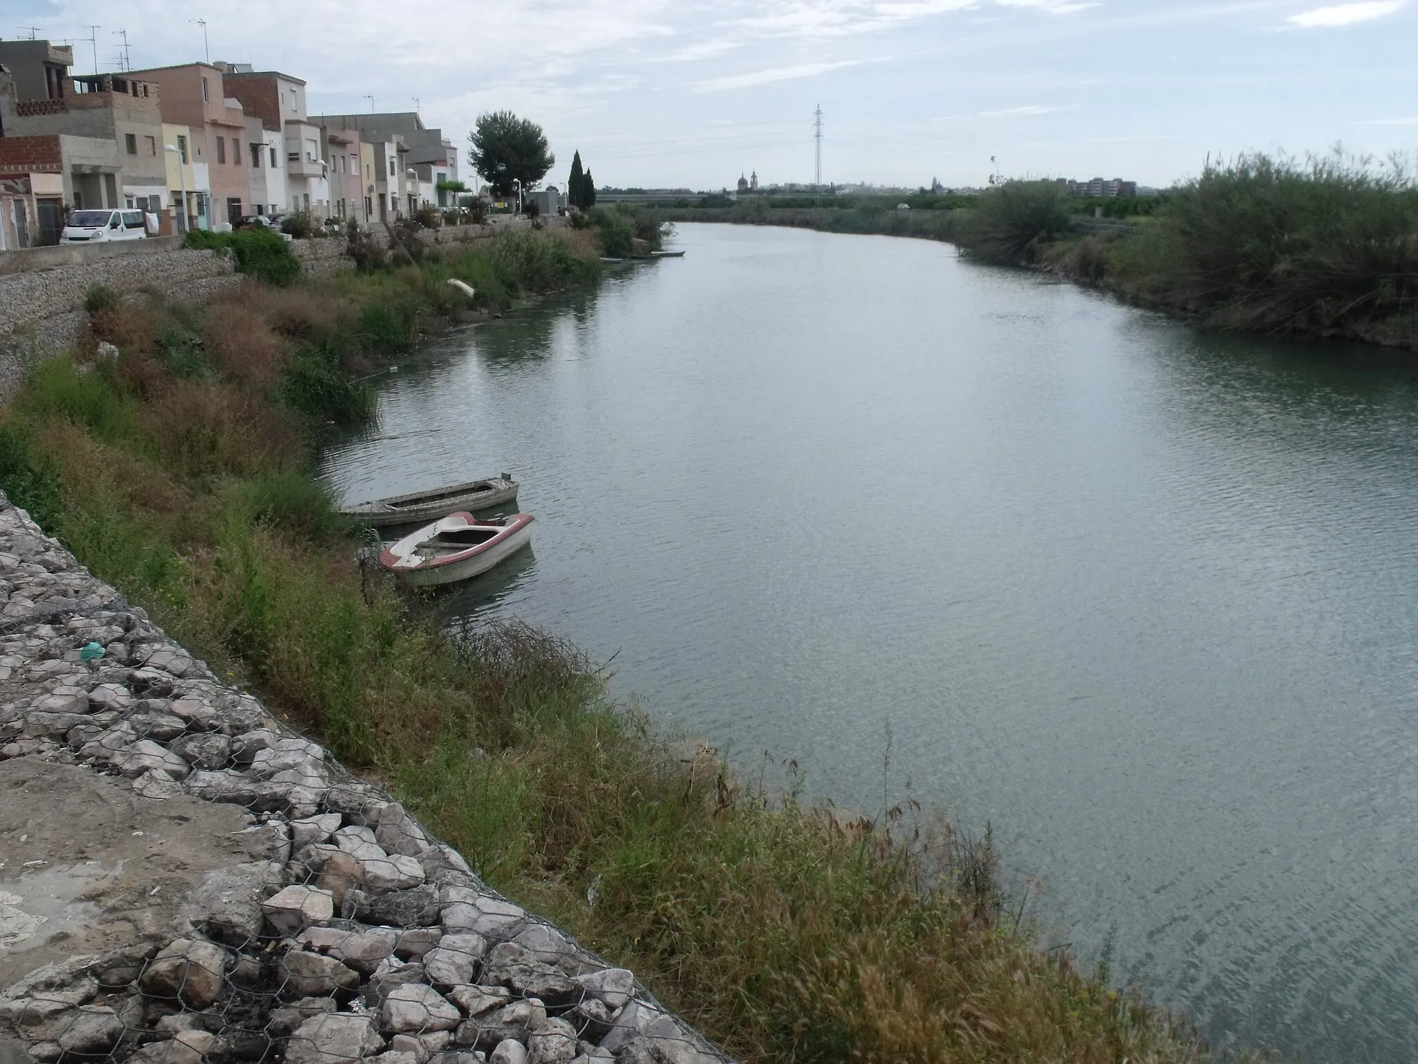
<path fill-rule="evenodd" d="M 484 111 L 530 118 L 552 183 L 574 150 L 601 187 L 811 182 L 818 106 L 832 183 L 1166 187 L 1208 156 L 1418 149 L 1418 0 L 0 0 L 0 35 L 72 40 L 77 74 L 95 47 L 118 68 L 119 30 L 133 68 L 201 60 L 196 18 L 312 113 L 417 101 L 461 146 Z"/>

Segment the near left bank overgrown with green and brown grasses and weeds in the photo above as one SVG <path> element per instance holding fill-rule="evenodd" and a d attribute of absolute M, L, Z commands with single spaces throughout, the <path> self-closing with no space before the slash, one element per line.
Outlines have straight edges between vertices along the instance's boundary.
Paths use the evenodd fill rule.
<path fill-rule="evenodd" d="M 0 419 L 0 487 L 491 882 L 746 1060 L 1205 1058 L 1034 948 L 987 837 L 769 800 L 610 704 L 574 648 L 522 627 L 450 637 L 360 570 L 311 475 L 322 426 L 367 416 L 350 380 L 464 309 L 448 275 L 509 297 L 591 281 L 598 248 L 570 237 L 207 306 L 95 299 L 95 339 L 121 356 L 34 370 Z"/>

